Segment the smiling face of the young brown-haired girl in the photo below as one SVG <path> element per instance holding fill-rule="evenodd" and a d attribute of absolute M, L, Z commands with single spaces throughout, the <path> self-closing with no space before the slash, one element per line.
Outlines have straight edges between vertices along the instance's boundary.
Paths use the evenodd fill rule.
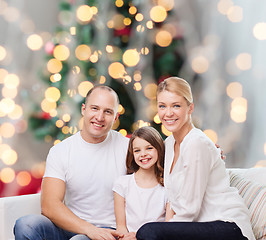
<path fill-rule="evenodd" d="M 132 143 L 133 155 L 136 164 L 141 169 L 154 168 L 158 160 L 158 151 L 146 140 L 136 137 Z"/>

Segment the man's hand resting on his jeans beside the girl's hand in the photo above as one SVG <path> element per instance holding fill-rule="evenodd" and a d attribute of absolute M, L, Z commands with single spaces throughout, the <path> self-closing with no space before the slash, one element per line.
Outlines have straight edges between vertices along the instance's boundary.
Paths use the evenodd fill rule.
<path fill-rule="evenodd" d="M 90 227 L 86 235 L 92 240 L 115 240 L 116 238 L 123 237 L 123 234 L 117 232 L 116 230 L 98 228 L 95 226 Z"/>

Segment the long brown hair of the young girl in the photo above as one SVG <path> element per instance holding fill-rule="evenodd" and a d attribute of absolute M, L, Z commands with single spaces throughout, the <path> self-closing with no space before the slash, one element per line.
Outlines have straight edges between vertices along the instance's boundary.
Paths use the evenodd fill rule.
<path fill-rule="evenodd" d="M 127 174 L 131 174 L 139 170 L 139 166 L 136 164 L 133 155 L 133 141 L 137 137 L 149 142 L 157 150 L 158 160 L 155 164 L 154 171 L 158 183 L 160 183 L 163 186 L 164 153 L 165 153 L 164 141 L 160 133 L 153 127 L 142 127 L 134 131 L 134 133 L 132 134 L 129 140 L 127 157 L 126 157 Z"/>

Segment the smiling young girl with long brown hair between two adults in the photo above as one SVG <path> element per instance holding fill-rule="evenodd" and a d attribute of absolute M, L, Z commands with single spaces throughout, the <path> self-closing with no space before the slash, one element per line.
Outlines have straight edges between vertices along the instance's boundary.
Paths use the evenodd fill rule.
<path fill-rule="evenodd" d="M 118 178 L 113 188 L 117 230 L 123 239 L 135 239 L 146 222 L 165 220 L 164 153 L 163 139 L 154 128 L 142 127 L 132 134 L 126 157 L 129 175 Z"/>

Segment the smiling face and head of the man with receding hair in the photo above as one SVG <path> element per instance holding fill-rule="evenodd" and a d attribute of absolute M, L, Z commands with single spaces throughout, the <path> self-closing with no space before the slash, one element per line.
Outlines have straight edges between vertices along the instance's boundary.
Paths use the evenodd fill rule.
<path fill-rule="evenodd" d="M 117 119 L 118 104 L 114 93 L 96 88 L 82 104 L 81 113 L 84 117 L 81 131 L 82 138 L 90 143 L 104 141 Z"/>

